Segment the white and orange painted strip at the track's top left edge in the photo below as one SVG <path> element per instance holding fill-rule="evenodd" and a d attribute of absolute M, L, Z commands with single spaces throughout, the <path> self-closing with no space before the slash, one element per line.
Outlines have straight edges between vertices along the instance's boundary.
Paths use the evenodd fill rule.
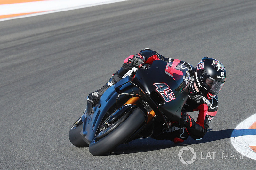
<path fill-rule="evenodd" d="M 0 0 L 0 21 L 127 0 Z"/>

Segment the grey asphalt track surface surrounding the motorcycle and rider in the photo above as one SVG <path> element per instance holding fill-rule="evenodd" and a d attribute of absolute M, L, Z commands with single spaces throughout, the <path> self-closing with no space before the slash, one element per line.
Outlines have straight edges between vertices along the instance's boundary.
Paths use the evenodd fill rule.
<path fill-rule="evenodd" d="M 232 130 L 256 112 L 255 9 L 255 0 L 131 0 L 0 22 L 0 169 L 255 169 L 241 154 L 220 156 L 235 155 Z M 182 144 L 138 139 L 100 157 L 74 147 L 68 132 L 88 93 L 143 48 L 226 67 L 207 134 Z M 184 146 L 197 153 L 190 165 L 178 158 Z M 208 152 L 215 159 L 201 159 Z"/>

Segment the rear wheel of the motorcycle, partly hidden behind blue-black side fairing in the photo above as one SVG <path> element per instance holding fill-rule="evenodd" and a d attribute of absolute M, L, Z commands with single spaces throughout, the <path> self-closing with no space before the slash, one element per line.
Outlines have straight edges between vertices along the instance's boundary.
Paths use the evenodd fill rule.
<path fill-rule="evenodd" d="M 69 140 L 70 142 L 75 145 L 76 147 L 88 147 L 89 144 L 87 144 L 83 140 L 83 136 L 80 134 L 80 132 L 83 129 L 83 122 L 81 117 L 73 124 L 73 126 L 69 130 Z"/>

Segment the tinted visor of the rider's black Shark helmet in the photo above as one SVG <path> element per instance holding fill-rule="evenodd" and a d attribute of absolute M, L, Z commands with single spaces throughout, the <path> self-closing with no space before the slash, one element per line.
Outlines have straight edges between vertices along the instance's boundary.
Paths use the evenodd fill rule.
<path fill-rule="evenodd" d="M 224 85 L 225 82 L 219 82 L 208 76 L 205 72 L 204 75 L 201 77 L 204 87 L 212 92 L 213 94 L 218 94 Z"/>

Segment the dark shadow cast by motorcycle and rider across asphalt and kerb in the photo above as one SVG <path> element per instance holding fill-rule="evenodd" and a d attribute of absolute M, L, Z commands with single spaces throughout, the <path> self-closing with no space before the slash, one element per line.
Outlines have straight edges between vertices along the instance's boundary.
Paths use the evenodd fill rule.
<path fill-rule="evenodd" d="M 140 138 L 136 139 L 129 144 L 121 144 L 116 147 L 111 153 L 107 155 L 120 155 L 120 154 L 129 154 L 129 153 L 138 153 L 138 152 L 147 152 L 155 151 L 159 149 L 166 149 L 175 146 L 187 146 L 190 144 L 200 144 L 207 143 L 217 140 L 222 140 L 231 137 L 237 137 L 242 135 L 256 135 L 256 129 L 225 129 L 219 131 L 212 131 L 208 129 L 208 132 L 205 134 L 204 138 L 200 141 L 193 140 L 189 137 L 186 141 L 180 144 L 174 144 L 169 140 L 155 140 L 152 138 Z"/>

